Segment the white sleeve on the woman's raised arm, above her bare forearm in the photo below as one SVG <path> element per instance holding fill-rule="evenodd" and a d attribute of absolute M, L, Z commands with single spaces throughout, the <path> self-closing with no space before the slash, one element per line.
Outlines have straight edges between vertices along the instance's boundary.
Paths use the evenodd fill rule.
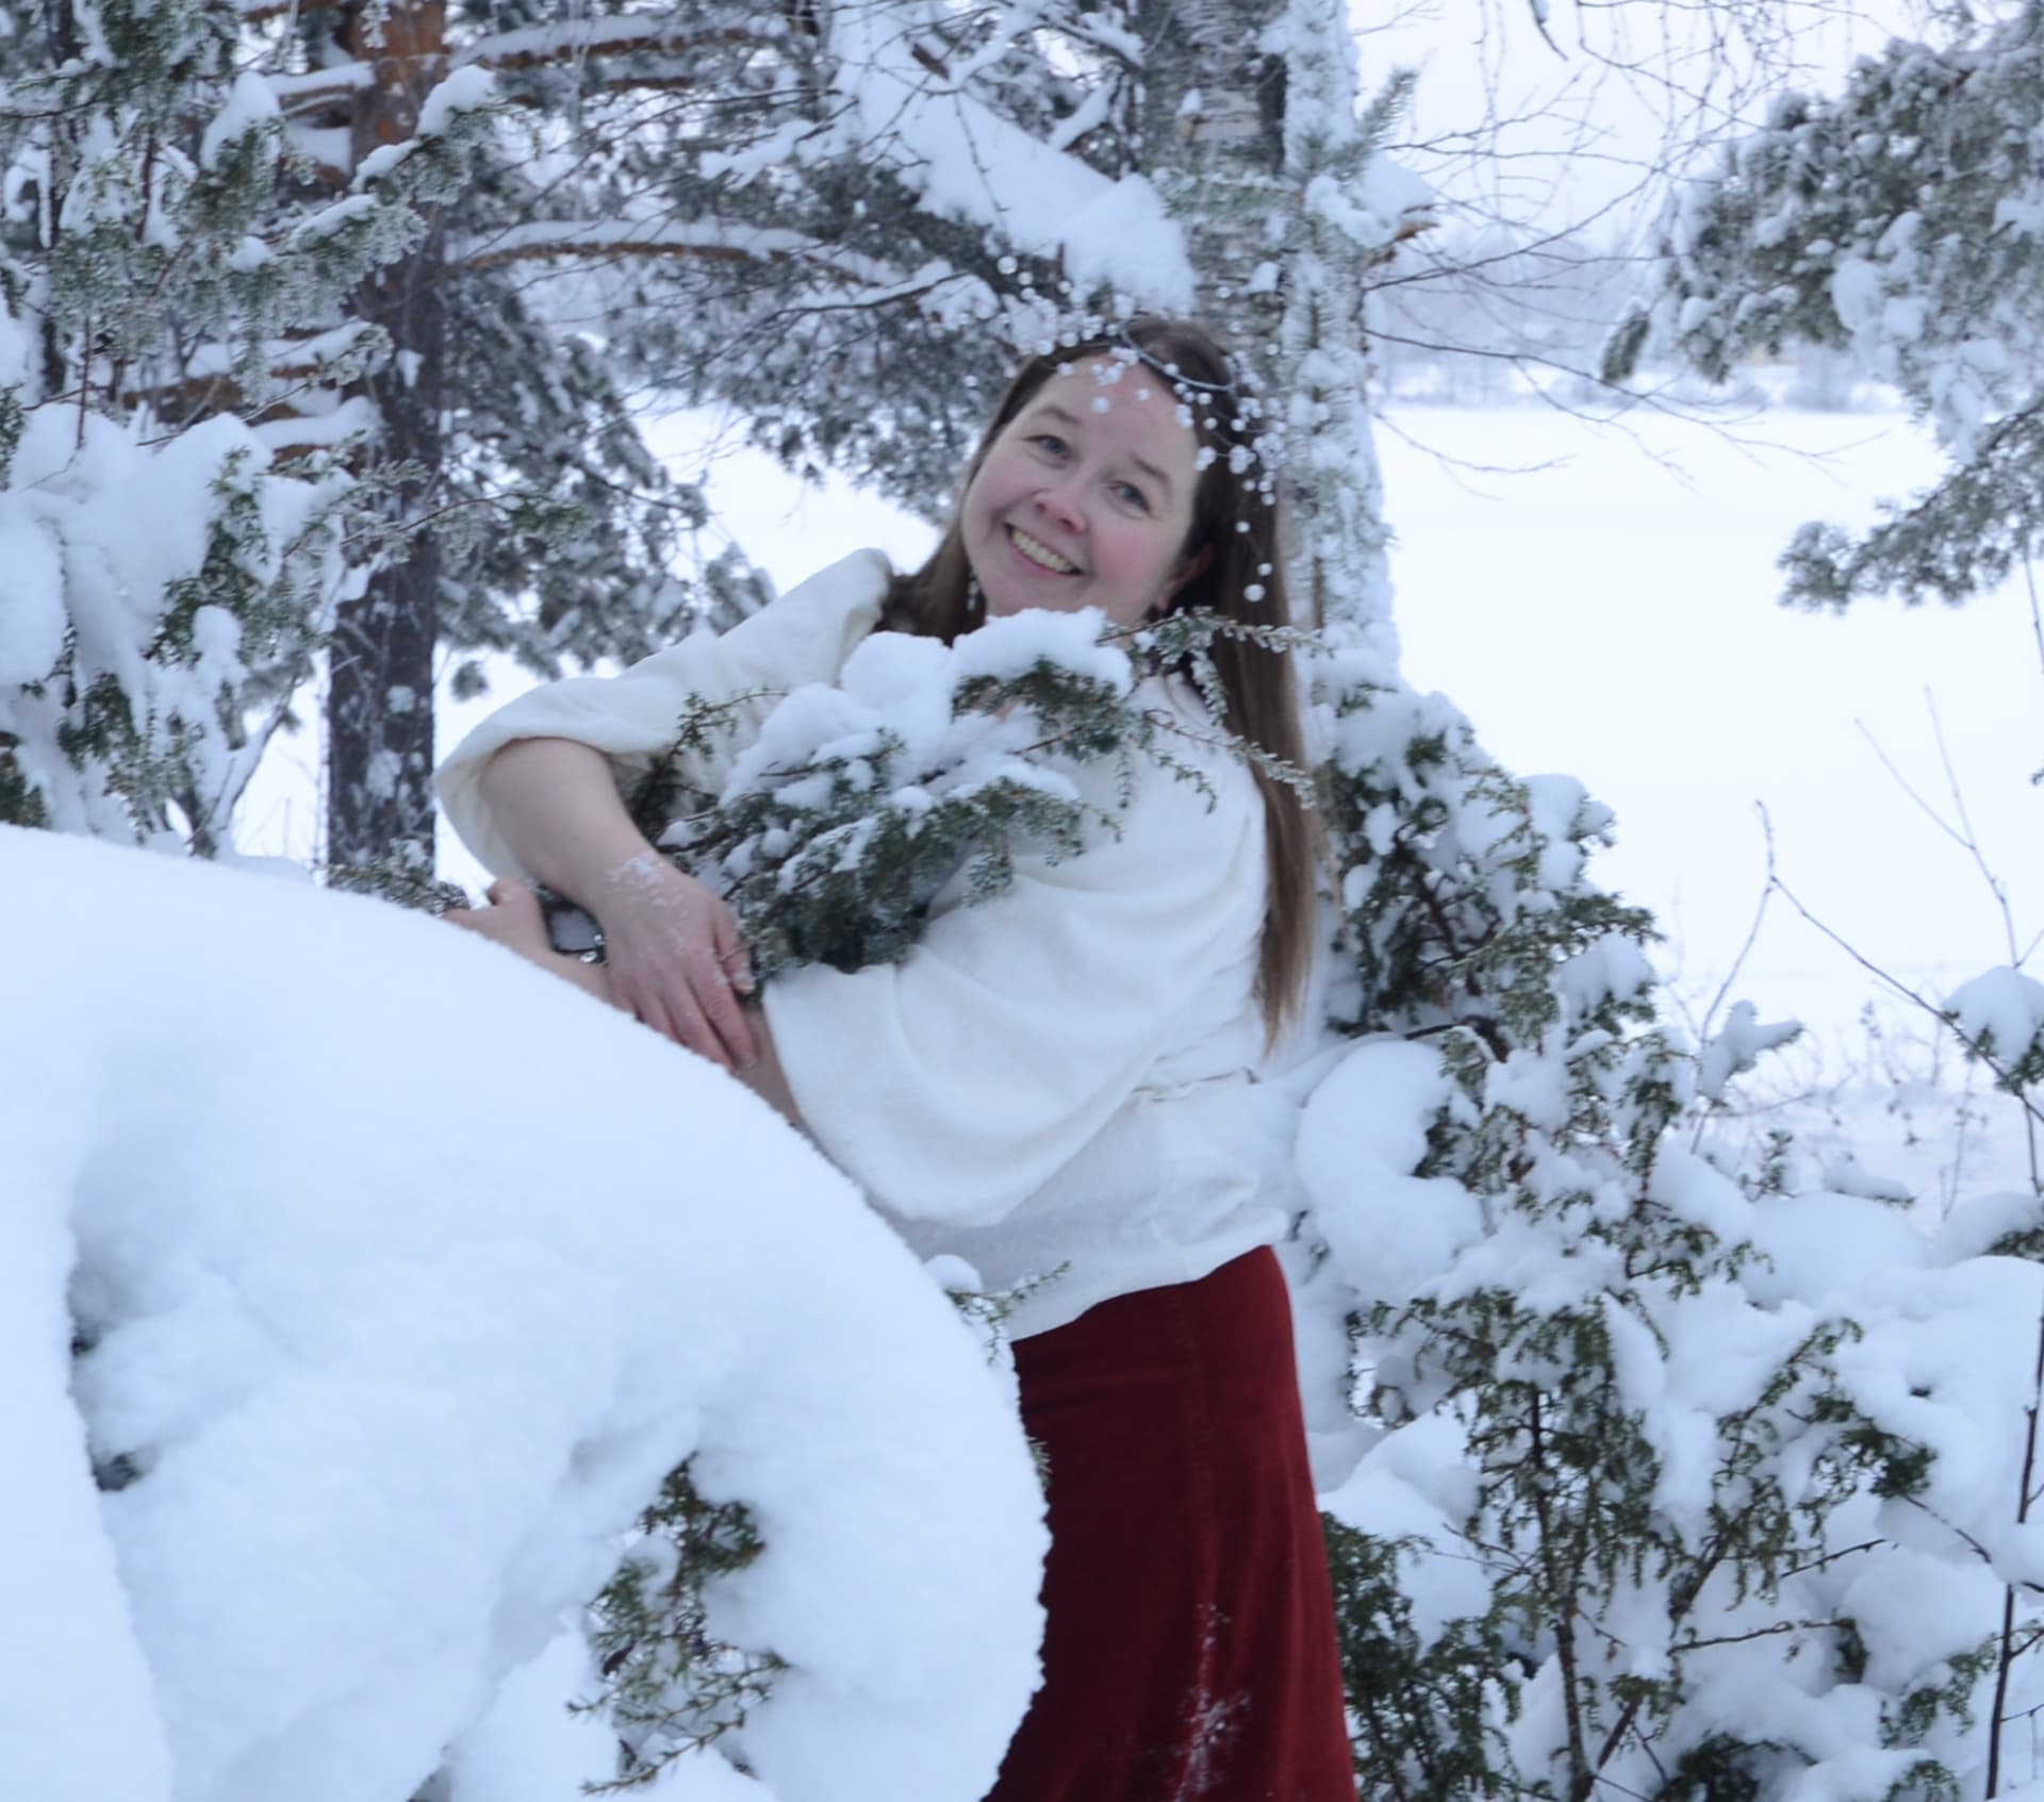
<path fill-rule="evenodd" d="M 732 701 L 758 691 L 762 699 L 734 717 L 734 738 L 744 746 L 789 689 L 838 678 L 844 660 L 879 623 L 887 578 L 879 552 L 854 552 L 722 635 L 697 631 L 623 674 L 568 676 L 507 701 L 439 766 L 439 805 L 486 870 L 523 876 L 482 801 L 482 766 L 497 752 L 517 738 L 572 738 L 603 752 L 623 787 L 672 746 L 691 695 Z M 728 764 L 726 754 L 713 752 L 683 768 L 693 787 L 715 791 Z"/>

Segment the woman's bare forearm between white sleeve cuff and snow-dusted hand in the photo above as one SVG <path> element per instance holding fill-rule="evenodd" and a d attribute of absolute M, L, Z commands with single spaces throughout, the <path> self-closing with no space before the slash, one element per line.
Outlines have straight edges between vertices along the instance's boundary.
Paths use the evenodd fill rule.
<path fill-rule="evenodd" d="M 632 823 L 603 752 L 570 738 L 519 738 L 482 766 L 482 801 L 519 864 L 595 907 L 605 879 L 654 856 Z"/>

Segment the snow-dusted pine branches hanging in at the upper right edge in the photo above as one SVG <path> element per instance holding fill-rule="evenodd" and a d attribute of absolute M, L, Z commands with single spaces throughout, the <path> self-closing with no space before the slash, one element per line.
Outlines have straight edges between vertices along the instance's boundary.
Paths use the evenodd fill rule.
<path fill-rule="evenodd" d="M 1791 343 L 1850 351 L 1950 456 L 1854 535 L 1813 523 L 1786 599 L 1966 601 L 2044 535 L 2044 4 L 1944 8 L 1950 43 L 1897 39 L 1836 98 L 1784 94 L 1670 215 L 1660 292 L 1615 335 L 1623 378 L 1664 343 L 1711 380 Z"/>

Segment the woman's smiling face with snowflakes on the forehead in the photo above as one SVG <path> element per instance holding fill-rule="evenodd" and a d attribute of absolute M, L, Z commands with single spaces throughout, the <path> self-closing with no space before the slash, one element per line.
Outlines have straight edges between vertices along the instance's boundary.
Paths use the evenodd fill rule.
<path fill-rule="evenodd" d="M 1145 364 L 1051 376 L 989 445 L 959 527 L 989 615 L 1098 607 L 1139 625 L 1188 582 L 1198 439 Z"/>

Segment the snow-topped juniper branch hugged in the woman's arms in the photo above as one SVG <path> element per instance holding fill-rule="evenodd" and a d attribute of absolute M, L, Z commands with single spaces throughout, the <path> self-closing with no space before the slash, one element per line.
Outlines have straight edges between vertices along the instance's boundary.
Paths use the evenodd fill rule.
<path fill-rule="evenodd" d="M 1310 783 L 1218 717 L 1210 648 L 1220 635 L 1273 654 L 1312 644 L 1216 615 L 1102 633 L 1094 613 L 1040 613 L 989 621 L 955 646 L 875 633 L 834 686 L 771 705 L 715 795 L 697 787 L 703 758 L 773 697 L 691 701 L 628 797 L 632 815 L 724 895 L 762 979 L 818 962 L 895 962 L 946 885 L 963 885 L 967 903 L 987 901 L 1014 881 L 1018 854 L 1069 858 L 1118 832 L 1118 805 L 1081 793 L 1075 766 L 1110 768 L 1118 803 L 1145 758 L 1210 791 L 1192 744 Z M 1145 672 L 1163 668 L 1183 670 L 1206 697 L 1204 723 L 1143 691 Z M 591 948 L 587 919 L 548 899 L 554 942 Z"/>

